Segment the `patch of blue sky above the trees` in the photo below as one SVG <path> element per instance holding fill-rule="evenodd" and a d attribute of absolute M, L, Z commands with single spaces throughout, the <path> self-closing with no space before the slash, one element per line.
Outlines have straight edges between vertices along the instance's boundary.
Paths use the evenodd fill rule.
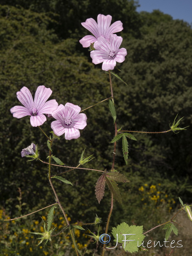
<path fill-rule="evenodd" d="M 180 19 L 192 23 L 192 0 L 138 0 L 140 7 L 137 12 L 160 11 L 170 14 L 173 19 Z"/>

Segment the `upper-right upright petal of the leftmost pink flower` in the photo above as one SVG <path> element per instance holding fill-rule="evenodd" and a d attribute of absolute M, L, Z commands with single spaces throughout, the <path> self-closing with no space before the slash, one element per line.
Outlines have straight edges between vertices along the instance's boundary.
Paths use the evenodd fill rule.
<path fill-rule="evenodd" d="M 40 110 L 51 94 L 52 90 L 50 88 L 46 88 L 44 85 L 38 86 L 34 98 L 35 107 Z"/>

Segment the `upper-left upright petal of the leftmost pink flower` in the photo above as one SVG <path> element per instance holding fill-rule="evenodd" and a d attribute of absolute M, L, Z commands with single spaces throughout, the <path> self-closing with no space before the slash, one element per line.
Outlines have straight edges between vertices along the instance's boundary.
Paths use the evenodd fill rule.
<path fill-rule="evenodd" d="M 30 109 L 34 106 L 33 97 L 31 92 L 27 87 L 22 87 L 20 92 L 17 92 L 17 99 L 25 106 L 27 109 Z"/>

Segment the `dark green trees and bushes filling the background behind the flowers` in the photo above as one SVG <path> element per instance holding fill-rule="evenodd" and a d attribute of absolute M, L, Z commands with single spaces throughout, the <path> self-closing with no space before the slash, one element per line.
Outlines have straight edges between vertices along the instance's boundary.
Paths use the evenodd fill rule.
<path fill-rule="evenodd" d="M 124 164 L 121 143 L 117 144 L 116 169 L 131 180 L 121 184 L 123 206 L 116 203 L 111 227 L 135 214 L 142 214 L 138 188 L 144 183 L 162 183 L 164 191 L 177 200 L 192 201 L 192 29 L 182 20 L 159 11 L 137 13 L 134 1 L 1 1 L 0 6 L 0 205 L 14 217 L 17 215 L 18 188 L 27 205 L 22 214 L 54 203 L 47 179 L 47 166 L 27 162 L 20 151 L 37 143 L 42 160 L 48 149 L 40 130 L 30 125 L 28 117 L 12 117 L 10 108 L 19 105 L 16 92 L 27 86 L 34 94 L 44 84 L 52 89 L 50 99 L 59 104 L 71 102 L 82 109 L 110 97 L 108 76 L 100 65 L 93 65 L 89 52 L 79 39 L 88 34 L 82 26 L 87 18 L 99 13 L 110 14 L 113 21 L 121 20 L 124 30 L 122 47 L 127 49 L 124 63 L 115 71 L 128 84 L 113 77 L 118 128 L 136 131 L 164 131 L 175 116 L 185 116 L 181 127 L 187 131 L 175 135 L 134 134 L 129 142 L 128 165 Z M 85 167 L 110 170 L 114 136 L 113 119 L 108 102 L 87 110 L 87 126 L 78 140 L 55 142 L 54 155 L 65 164 L 75 166 L 84 148 L 86 156 L 95 158 Z M 42 128 L 50 131 L 52 120 Z M 60 168 L 52 168 L 59 173 Z M 109 209 L 106 196 L 97 203 L 94 186 L 97 172 L 69 172 L 65 178 L 74 187 L 54 181 L 58 196 L 73 222 L 93 221 L 95 213 L 103 218 Z M 75 207 L 74 207 L 75 205 Z M 107 206 L 106 206 L 107 205 Z M 160 215 L 159 215 L 160 217 Z M 144 230 L 156 223 L 145 216 L 134 220 Z M 156 220 L 156 219 L 155 219 Z"/>

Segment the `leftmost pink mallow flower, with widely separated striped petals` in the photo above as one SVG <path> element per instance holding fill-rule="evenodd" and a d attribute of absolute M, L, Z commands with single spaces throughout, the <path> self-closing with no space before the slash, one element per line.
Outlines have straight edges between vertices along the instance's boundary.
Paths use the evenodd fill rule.
<path fill-rule="evenodd" d="M 24 116 L 31 116 L 30 122 L 32 126 L 42 125 L 46 121 L 46 117 L 43 114 L 52 114 L 52 111 L 58 107 L 56 100 L 46 100 L 51 96 L 52 90 L 46 88 L 44 85 L 38 86 L 35 98 L 31 95 L 31 92 L 27 87 L 20 89 L 17 92 L 18 100 L 23 106 L 15 106 L 10 109 L 13 117 L 21 118 Z"/>

